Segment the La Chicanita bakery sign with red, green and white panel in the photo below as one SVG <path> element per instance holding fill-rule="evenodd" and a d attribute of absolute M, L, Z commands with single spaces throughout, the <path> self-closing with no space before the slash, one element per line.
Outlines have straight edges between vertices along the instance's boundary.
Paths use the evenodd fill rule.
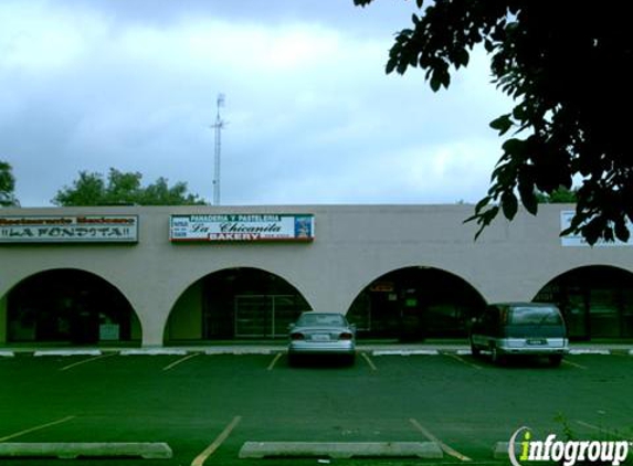
<path fill-rule="evenodd" d="M 171 215 L 171 242 L 314 241 L 312 214 Z"/>

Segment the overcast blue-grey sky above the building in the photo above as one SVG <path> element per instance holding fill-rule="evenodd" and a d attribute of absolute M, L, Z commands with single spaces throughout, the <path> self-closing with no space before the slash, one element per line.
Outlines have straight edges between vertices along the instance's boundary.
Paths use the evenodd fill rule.
<path fill-rule="evenodd" d="M 475 53 L 449 91 L 386 75 L 414 2 L 1 0 L 0 160 L 23 206 L 81 170 L 186 181 L 223 204 L 476 202 L 510 109 Z"/>

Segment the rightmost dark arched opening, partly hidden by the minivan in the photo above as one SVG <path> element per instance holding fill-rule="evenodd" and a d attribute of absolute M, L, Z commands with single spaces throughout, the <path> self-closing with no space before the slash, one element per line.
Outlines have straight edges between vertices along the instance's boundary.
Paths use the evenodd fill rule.
<path fill-rule="evenodd" d="M 633 274 L 591 265 L 550 280 L 535 301 L 561 309 L 570 339 L 633 338 Z"/>

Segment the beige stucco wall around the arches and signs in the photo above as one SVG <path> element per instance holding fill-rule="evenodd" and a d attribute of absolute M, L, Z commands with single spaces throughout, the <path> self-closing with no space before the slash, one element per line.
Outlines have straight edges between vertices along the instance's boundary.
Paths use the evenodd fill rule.
<path fill-rule="evenodd" d="M 3 209 L 2 215 L 138 214 L 140 231 L 135 245 L 0 245 L 0 297 L 42 271 L 92 272 L 128 298 L 140 319 L 143 345 L 160 346 L 182 293 L 230 267 L 279 275 L 314 310 L 324 311 L 346 311 L 370 282 L 407 266 L 451 272 L 487 301 L 529 300 L 551 278 L 583 265 L 633 272 L 633 247 L 562 247 L 561 209 L 571 206 L 542 205 L 537 218 L 520 213 L 511 224 L 498 220 L 477 242 L 475 225 L 463 224 L 472 205 Z M 169 215 L 192 213 L 312 213 L 316 239 L 307 244 L 171 244 Z M 4 322 L 2 309 L 0 301 Z"/>

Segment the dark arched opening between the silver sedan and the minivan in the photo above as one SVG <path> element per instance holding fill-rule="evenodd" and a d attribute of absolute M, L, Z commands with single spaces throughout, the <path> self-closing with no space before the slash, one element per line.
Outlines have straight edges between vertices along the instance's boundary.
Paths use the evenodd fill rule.
<path fill-rule="evenodd" d="M 465 337 L 470 319 L 485 306 L 467 282 L 432 267 L 405 267 L 370 283 L 355 299 L 348 319 L 359 338 Z"/>

